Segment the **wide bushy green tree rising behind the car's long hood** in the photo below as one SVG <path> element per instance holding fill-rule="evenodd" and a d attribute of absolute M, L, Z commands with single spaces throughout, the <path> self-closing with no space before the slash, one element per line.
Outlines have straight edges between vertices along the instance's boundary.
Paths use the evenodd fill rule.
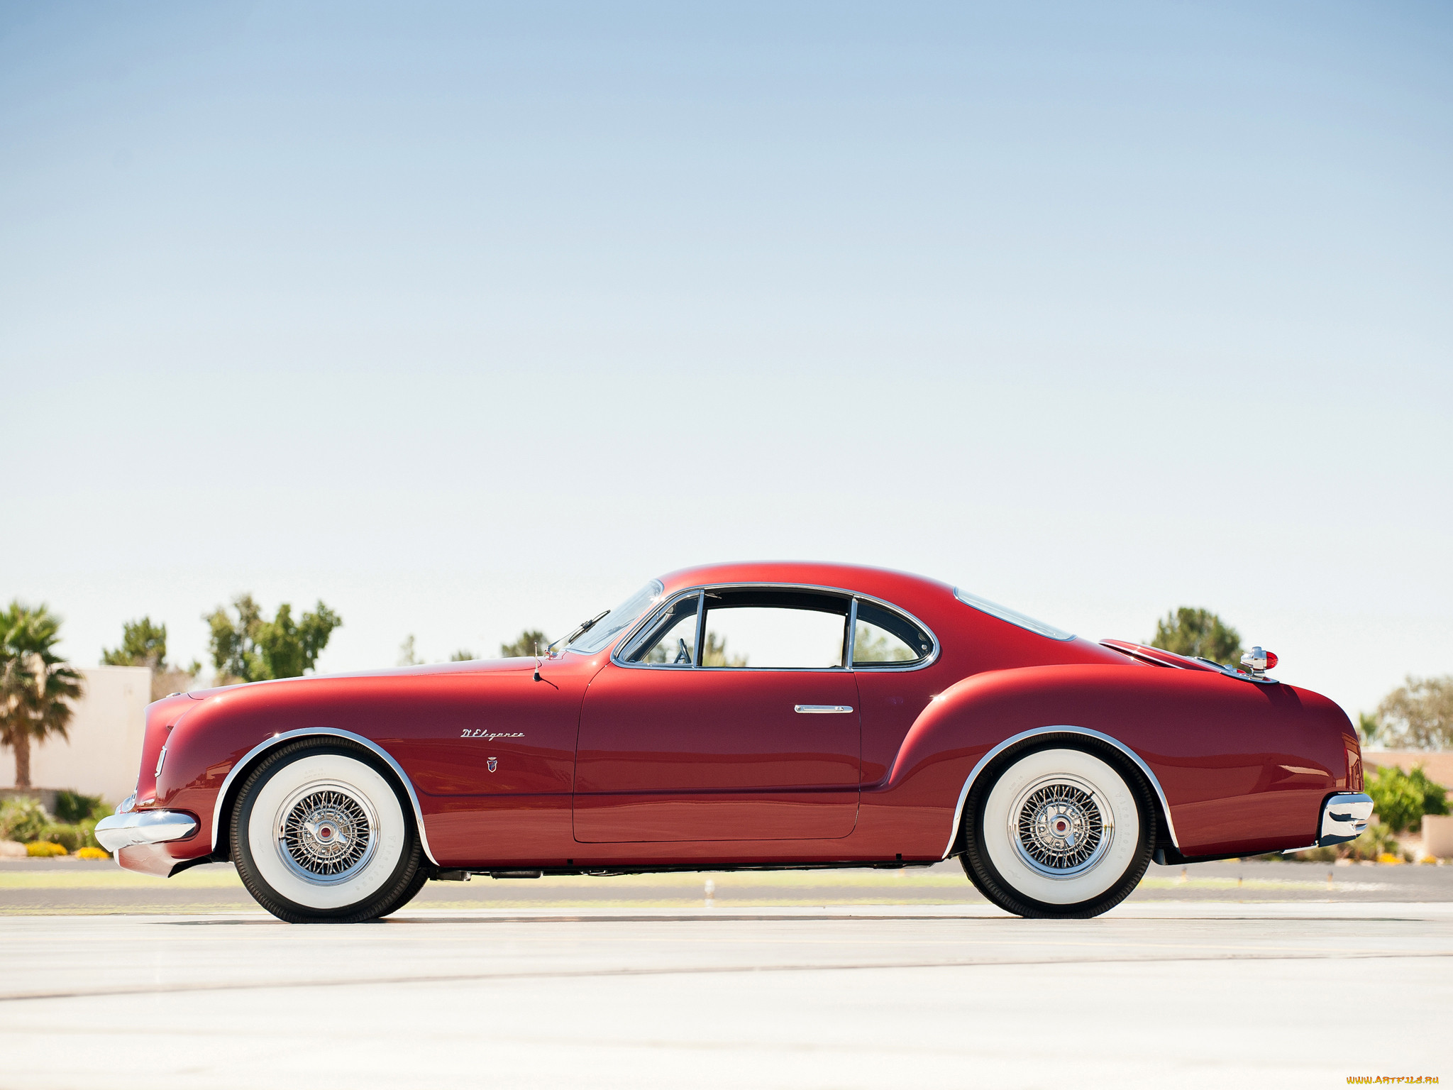
<path fill-rule="evenodd" d="M 211 628 L 212 666 L 221 685 L 302 677 L 318 661 L 333 629 L 343 623 L 323 602 L 298 621 L 286 602 L 272 621 L 264 619 L 251 594 L 232 599 L 232 609 L 235 619 L 222 606 L 202 618 Z"/>

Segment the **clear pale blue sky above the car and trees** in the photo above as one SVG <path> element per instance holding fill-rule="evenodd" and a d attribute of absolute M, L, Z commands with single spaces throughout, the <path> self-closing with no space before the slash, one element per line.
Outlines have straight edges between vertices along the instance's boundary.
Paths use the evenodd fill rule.
<path fill-rule="evenodd" d="M 0 597 L 321 669 L 847 560 L 1453 671 L 1453 9 L 0 6 Z"/>

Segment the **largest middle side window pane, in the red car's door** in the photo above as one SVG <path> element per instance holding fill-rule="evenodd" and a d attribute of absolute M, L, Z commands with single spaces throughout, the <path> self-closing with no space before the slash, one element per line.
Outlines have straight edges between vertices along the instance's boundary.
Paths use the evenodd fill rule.
<path fill-rule="evenodd" d="M 844 597 L 804 590 L 709 590 L 702 666 L 841 667 L 847 606 Z"/>

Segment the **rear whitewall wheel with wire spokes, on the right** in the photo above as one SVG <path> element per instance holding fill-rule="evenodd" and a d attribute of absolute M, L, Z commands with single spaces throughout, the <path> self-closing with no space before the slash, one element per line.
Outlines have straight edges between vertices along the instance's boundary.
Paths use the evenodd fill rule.
<path fill-rule="evenodd" d="M 1078 748 L 1013 759 L 963 810 L 963 869 L 1016 916 L 1100 916 L 1135 889 L 1155 846 L 1139 776 Z"/>

